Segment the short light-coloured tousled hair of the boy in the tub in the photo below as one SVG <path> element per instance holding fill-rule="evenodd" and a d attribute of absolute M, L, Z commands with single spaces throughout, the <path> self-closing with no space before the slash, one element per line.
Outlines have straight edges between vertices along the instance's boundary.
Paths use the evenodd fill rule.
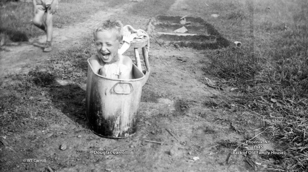
<path fill-rule="evenodd" d="M 121 21 L 117 20 L 106 20 L 103 21 L 101 23 L 99 23 L 98 25 L 95 26 L 94 30 L 93 30 L 93 36 L 95 38 L 95 34 L 97 32 L 103 32 L 103 31 L 112 31 L 114 32 L 117 40 L 119 40 L 119 42 L 121 42 L 123 40 L 123 24 Z"/>

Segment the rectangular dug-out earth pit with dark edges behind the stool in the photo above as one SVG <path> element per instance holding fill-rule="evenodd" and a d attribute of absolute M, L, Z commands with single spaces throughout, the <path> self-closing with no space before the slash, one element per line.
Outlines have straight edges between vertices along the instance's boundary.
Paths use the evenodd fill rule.
<path fill-rule="evenodd" d="M 177 44 L 180 47 L 190 47 L 199 50 L 217 49 L 229 46 L 229 41 L 209 23 L 200 17 L 185 17 L 190 24 L 181 25 L 180 16 L 157 16 L 155 31 L 157 39 L 167 44 Z M 185 27 L 188 32 L 175 34 L 173 31 Z"/>

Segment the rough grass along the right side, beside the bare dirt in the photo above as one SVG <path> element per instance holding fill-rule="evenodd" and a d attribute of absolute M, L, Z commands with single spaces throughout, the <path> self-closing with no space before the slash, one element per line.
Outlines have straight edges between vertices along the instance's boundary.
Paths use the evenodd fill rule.
<path fill-rule="evenodd" d="M 240 100 L 213 97 L 206 105 L 232 112 L 233 122 L 256 121 L 256 127 L 264 127 L 270 139 L 285 147 L 290 157 L 282 157 L 269 169 L 305 171 L 308 165 L 308 2 L 261 0 L 256 4 L 213 1 L 208 3 L 209 8 L 198 0 L 191 1 L 190 5 L 203 13 L 224 37 L 243 44 L 240 49 L 230 46 L 205 52 L 210 63 L 203 70 L 228 80 L 243 92 Z M 208 10 L 202 12 L 204 8 Z M 212 13 L 220 14 L 221 18 L 209 17 Z"/>

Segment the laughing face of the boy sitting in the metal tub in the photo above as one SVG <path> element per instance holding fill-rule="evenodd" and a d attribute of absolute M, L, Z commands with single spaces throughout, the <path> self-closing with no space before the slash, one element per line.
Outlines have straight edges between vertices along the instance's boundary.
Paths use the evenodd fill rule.
<path fill-rule="evenodd" d="M 112 31 L 99 31 L 95 34 L 95 46 L 99 58 L 104 63 L 113 63 L 118 60 L 118 49 L 124 41 L 119 41 Z"/>

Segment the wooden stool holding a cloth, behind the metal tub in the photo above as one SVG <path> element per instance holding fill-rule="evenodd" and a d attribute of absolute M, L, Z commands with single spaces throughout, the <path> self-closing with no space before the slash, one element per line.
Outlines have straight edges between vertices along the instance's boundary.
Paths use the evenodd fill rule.
<path fill-rule="evenodd" d="M 136 58 L 136 66 L 138 67 L 138 69 L 140 71 L 142 71 L 142 67 L 141 67 L 141 61 L 140 61 L 140 55 L 139 55 L 138 48 L 142 48 L 142 55 L 143 55 L 143 58 L 144 58 L 145 67 L 146 67 L 147 70 L 149 70 L 148 52 L 145 48 L 145 46 L 148 44 L 148 40 L 149 40 L 149 38 L 144 36 L 139 41 L 132 40 L 130 42 L 130 48 L 134 48 L 135 58 Z"/>

